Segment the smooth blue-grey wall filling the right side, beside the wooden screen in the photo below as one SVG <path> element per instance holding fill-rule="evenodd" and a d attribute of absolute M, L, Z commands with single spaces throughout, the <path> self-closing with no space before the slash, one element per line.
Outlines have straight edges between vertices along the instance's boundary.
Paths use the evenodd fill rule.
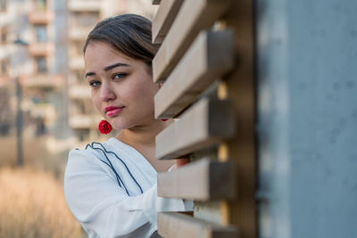
<path fill-rule="evenodd" d="M 256 12 L 260 237 L 357 237 L 357 1 Z"/>

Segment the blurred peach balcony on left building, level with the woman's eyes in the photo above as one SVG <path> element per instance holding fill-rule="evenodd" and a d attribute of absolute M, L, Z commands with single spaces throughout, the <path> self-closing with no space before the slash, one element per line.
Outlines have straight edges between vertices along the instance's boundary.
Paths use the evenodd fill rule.
<path fill-rule="evenodd" d="M 63 85 L 62 75 L 37 74 L 21 77 L 21 85 L 25 87 L 60 87 Z"/>

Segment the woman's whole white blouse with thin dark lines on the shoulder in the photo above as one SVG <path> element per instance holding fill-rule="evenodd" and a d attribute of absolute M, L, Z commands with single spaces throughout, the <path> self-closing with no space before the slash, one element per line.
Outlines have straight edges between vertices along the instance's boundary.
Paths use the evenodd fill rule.
<path fill-rule="evenodd" d="M 70 152 L 64 193 L 90 238 L 154 237 L 157 212 L 193 209 L 192 201 L 158 197 L 156 178 L 140 152 L 111 138 Z"/>

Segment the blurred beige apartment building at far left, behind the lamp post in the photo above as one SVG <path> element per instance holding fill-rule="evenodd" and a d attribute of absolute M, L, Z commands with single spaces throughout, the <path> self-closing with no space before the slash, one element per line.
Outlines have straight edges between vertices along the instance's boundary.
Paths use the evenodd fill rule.
<path fill-rule="evenodd" d="M 16 103 L 21 100 L 25 132 L 45 135 L 55 127 L 65 80 L 55 67 L 58 57 L 54 3 L 0 3 L 0 134 L 14 130 L 19 114 Z"/>

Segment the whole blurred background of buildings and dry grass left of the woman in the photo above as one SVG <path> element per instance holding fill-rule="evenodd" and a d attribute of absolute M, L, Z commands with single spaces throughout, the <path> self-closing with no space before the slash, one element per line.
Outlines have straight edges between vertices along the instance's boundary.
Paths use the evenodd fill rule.
<path fill-rule="evenodd" d="M 111 135 L 97 131 L 83 45 L 98 21 L 156 10 L 147 0 L 0 0 L 0 237 L 84 235 L 64 201 L 67 155 Z"/>

